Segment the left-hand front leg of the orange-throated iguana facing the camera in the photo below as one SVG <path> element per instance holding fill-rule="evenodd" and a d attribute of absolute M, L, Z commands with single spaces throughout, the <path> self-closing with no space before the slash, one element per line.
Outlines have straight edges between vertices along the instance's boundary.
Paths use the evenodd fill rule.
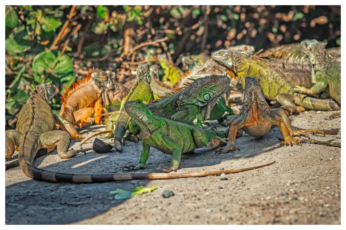
<path fill-rule="evenodd" d="M 239 113 L 227 118 L 227 123 L 229 124 L 228 143 L 225 147 L 218 148 L 216 152 L 227 153 L 233 152 L 235 149 L 239 150 L 238 147 L 234 147 L 234 142 L 237 136 L 237 130 L 243 128 L 245 125 L 245 119 L 240 117 Z"/>

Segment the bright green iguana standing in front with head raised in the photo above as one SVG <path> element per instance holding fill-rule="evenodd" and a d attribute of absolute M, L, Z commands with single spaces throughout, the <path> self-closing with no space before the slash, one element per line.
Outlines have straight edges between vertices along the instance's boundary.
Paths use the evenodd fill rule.
<path fill-rule="evenodd" d="M 213 138 L 226 138 L 226 134 L 221 131 L 197 128 L 156 116 L 142 100 L 126 102 L 125 110 L 140 126 L 139 138 L 142 139 L 143 149 L 135 170 L 145 168 L 150 147 L 172 154 L 171 167 L 163 170 L 171 172 L 179 168 L 181 154 L 202 148 L 213 141 Z"/>

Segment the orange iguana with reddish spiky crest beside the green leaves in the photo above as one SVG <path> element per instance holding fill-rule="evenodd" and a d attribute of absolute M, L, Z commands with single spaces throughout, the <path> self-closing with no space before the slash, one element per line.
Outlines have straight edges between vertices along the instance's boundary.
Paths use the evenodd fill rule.
<path fill-rule="evenodd" d="M 82 81 L 77 80 L 61 97 L 59 115 L 80 127 L 90 123 L 93 115 L 103 113 L 111 102 L 121 101 L 129 92 L 121 83 L 116 82 L 115 76 L 111 71 L 93 72 Z M 94 123 L 99 124 L 102 117 L 94 119 Z"/>

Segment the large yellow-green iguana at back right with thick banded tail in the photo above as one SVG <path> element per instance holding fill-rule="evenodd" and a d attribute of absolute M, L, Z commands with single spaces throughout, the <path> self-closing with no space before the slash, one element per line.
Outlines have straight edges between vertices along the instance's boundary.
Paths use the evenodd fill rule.
<path fill-rule="evenodd" d="M 340 110 L 333 99 L 318 99 L 295 92 L 294 84 L 284 74 L 260 58 L 248 57 L 225 49 L 215 51 L 211 57 L 234 72 L 242 81 L 243 88 L 245 77 L 259 76 L 264 96 L 281 103 L 282 108 L 291 114 L 298 112 L 296 105 L 312 110 Z"/>

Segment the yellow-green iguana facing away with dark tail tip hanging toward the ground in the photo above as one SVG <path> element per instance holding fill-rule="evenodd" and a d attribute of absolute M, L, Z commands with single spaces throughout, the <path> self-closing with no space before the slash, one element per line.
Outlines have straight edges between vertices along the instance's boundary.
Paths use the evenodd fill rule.
<path fill-rule="evenodd" d="M 126 130 L 131 122 L 130 116 L 124 109 L 124 104 L 127 101 L 143 99 L 144 101 L 152 101 L 154 99 L 153 92 L 150 88 L 151 75 L 147 64 L 139 65 L 137 69 L 137 80 L 127 96 L 122 100 L 119 113 L 110 115 L 106 121 L 106 130 L 113 129 L 114 131 L 114 146 L 118 151 L 122 151 L 121 139 L 124 137 Z M 106 133 L 102 138 L 111 138 L 112 133 Z"/>

